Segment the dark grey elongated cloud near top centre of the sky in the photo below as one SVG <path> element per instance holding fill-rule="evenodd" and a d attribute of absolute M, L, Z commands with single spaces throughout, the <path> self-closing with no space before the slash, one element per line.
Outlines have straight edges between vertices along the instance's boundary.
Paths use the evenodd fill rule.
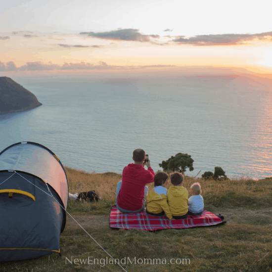
<path fill-rule="evenodd" d="M 118 29 L 110 32 L 81 32 L 89 37 L 116 41 L 150 42 L 150 38 L 160 38 L 159 35 L 142 35 L 137 29 Z"/>

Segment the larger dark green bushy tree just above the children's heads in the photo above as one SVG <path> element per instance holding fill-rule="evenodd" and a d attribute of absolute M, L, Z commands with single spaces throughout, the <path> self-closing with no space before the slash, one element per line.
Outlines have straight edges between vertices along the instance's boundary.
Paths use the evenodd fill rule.
<path fill-rule="evenodd" d="M 159 166 L 163 168 L 163 171 L 184 173 L 186 168 L 189 168 L 189 171 L 193 171 L 193 162 L 191 155 L 178 153 L 175 157 L 171 156 L 167 161 L 159 163 Z"/>

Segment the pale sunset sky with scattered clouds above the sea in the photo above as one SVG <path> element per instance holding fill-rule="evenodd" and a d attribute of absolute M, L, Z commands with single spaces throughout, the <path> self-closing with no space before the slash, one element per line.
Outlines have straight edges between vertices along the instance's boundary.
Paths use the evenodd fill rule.
<path fill-rule="evenodd" d="M 3 1 L 0 76 L 171 73 L 186 67 L 272 73 L 271 11 L 267 3 Z"/>

